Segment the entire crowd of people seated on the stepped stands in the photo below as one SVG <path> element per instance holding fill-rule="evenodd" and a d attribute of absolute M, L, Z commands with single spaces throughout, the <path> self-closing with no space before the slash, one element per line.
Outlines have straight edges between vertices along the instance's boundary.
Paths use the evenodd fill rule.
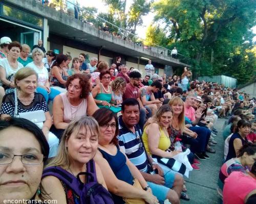
<path fill-rule="evenodd" d="M 0 203 L 189 200 L 184 176 L 215 154 L 218 118 L 228 118 L 218 193 L 255 203 L 255 98 L 191 81 L 186 67 L 160 77 L 150 60 L 142 79 L 121 57 L 72 59 L 39 40 L 31 59 L 28 45 L 0 46 Z"/>

